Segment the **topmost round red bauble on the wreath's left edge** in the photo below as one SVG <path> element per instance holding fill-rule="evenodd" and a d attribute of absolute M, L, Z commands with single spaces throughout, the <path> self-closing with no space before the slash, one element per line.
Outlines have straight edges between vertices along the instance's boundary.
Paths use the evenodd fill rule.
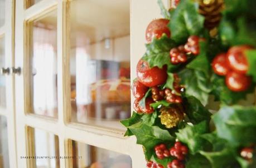
<path fill-rule="evenodd" d="M 169 23 L 168 19 L 155 19 L 148 24 L 146 29 L 146 40 L 148 43 L 152 42 L 153 38 L 161 38 L 165 33 L 168 37 L 170 37 L 171 32 L 168 28 L 167 24 Z"/>

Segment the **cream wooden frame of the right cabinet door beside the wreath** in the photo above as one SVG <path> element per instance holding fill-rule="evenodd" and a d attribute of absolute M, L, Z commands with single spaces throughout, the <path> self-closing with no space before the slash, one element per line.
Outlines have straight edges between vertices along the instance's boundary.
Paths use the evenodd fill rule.
<path fill-rule="evenodd" d="M 35 161 L 20 159 L 20 156 L 33 155 L 35 153 L 35 149 L 31 149 L 34 142 L 33 133 L 28 129 L 29 127 L 42 129 L 59 136 L 60 156 L 69 156 L 72 154 L 71 140 L 75 140 L 129 155 L 132 158 L 134 168 L 144 167 L 146 161 L 144 161 L 142 146 L 136 145 L 136 139 L 134 137 L 124 138 L 124 131 L 107 129 L 93 124 L 70 123 L 70 41 L 68 39 L 70 27 L 67 24 L 67 19 L 70 19 L 69 3 L 66 0 L 42 0 L 26 9 L 26 1 L 16 1 L 15 67 L 21 67 L 22 72 L 21 75 L 15 75 L 16 156 L 18 159 L 17 166 L 15 164 L 12 167 L 35 167 Z M 106 3 L 105 5 L 107 5 L 107 1 L 105 2 L 104 0 L 97 2 Z M 170 5 L 167 0 L 164 2 L 166 6 Z M 145 50 L 144 32 L 147 24 L 152 19 L 160 18 L 161 16 L 156 0 L 131 0 L 130 6 L 131 69 L 133 79 L 135 78 L 136 64 Z M 30 86 L 25 85 L 28 75 L 30 75 L 28 74 L 30 72 L 30 65 L 28 64 L 30 45 L 27 41 L 30 32 L 26 23 L 35 20 L 54 8 L 57 9 L 58 119 L 28 113 L 30 112 L 31 103 L 27 101 L 30 92 L 26 88 Z M 81 12 L 84 12 L 83 14 L 86 16 L 86 11 Z M 14 118 L 14 115 L 12 117 Z M 72 167 L 72 162 L 70 160 L 60 159 L 60 167 Z"/>

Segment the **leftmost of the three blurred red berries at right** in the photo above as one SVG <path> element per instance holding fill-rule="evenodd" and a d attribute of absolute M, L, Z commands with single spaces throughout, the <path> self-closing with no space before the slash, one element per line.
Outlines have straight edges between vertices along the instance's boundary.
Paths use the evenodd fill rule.
<path fill-rule="evenodd" d="M 226 54 L 225 53 L 221 53 L 218 54 L 211 63 L 212 69 L 214 70 L 215 74 L 221 75 L 221 76 L 225 76 L 228 71 L 229 71 L 229 67 L 227 64 L 227 59 L 226 59 Z"/>

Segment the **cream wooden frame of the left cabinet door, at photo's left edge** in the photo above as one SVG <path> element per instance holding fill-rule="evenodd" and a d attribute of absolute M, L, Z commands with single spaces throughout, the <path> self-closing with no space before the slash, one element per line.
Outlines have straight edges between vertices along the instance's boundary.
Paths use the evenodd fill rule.
<path fill-rule="evenodd" d="M 15 1 L 5 2 L 5 22 L 0 27 L 0 38 L 4 37 L 5 67 L 11 68 L 14 65 L 14 12 Z M 3 67 L 0 67 L 3 68 Z M 14 76 L 6 75 L 6 108 L 0 108 L 0 115 L 6 116 L 8 132 L 9 166 L 17 166 L 16 155 L 16 128 L 15 128 L 15 100 L 14 97 Z M 1 93 L 2 94 L 2 93 Z M 1 160 L 1 159 L 0 159 Z M 0 165 L 1 167 L 1 165 Z"/>

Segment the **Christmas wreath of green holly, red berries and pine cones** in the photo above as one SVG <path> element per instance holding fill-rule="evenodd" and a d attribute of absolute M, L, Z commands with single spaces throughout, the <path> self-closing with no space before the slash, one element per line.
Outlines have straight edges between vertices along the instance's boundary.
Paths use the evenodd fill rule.
<path fill-rule="evenodd" d="M 147 167 L 256 167 L 256 1 L 175 2 L 147 27 L 125 136 Z"/>

